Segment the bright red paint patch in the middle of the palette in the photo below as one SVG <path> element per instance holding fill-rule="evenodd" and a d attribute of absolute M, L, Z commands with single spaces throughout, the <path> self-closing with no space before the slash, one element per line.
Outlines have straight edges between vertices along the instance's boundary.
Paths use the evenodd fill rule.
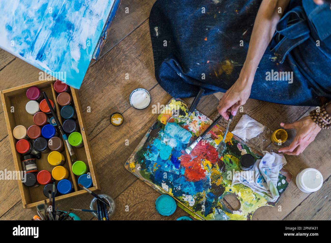
<path fill-rule="evenodd" d="M 206 171 L 202 165 L 205 159 L 212 164 L 217 163 L 218 152 L 209 143 L 203 145 L 202 141 L 195 146 L 191 154 L 184 153 L 179 157 L 181 166 L 185 168 L 184 176 L 187 181 L 198 182 L 206 178 Z"/>

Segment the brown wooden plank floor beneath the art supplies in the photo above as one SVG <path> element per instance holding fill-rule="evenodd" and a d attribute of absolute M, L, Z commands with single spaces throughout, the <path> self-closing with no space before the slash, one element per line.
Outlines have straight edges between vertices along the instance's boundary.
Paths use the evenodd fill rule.
<path fill-rule="evenodd" d="M 159 193 L 138 180 L 124 169 L 124 163 L 157 114 L 151 109 L 136 110 L 129 104 L 129 95 L 135 88 L 150 91 L 152 103 L 165 104 L 170 96 L 158 85 L 154 76 L 153 53 L 148 17 L 155 0 L 122 0 L 113 30 L 98 62 L 91 62 L 79 95 L 81 105 L 90 106 L 91 113 L 84 113 L 92 152 L 97 165 L 102 193 L 116 199 L 117 211 L 114 220 L 174 220 L 187 215 L 177 208 L 170 217 L 162 217 L 155 210 Z M 125 8 L 129 13 L 125 13 Z M 39 69 L 0 49 L 0 90 L 38 80 Z M 129 74 L 129 80 L 125 74 Z M 215 116 L 216 105 L 222 94 L 203 97 L 198 110 L 207 116 Z M 191 101 L 192 99 L 184 99 Z M 278 105 L 249 100 L 244 112 L 239 113 L 230 129 L 243 114 L 248 114 L 271 131 L 279 128 L 282 121 L 292 122 L 311 110 L 309 107 Z M 125 123 L 114 127 L 109 122 L 113 112 L 121 112 Z M 105 142 L 104 138 L 109 138 Z M 129 145 L 125 145 L 125 140 Z M 328 220 L 331 219 L 331 150 L 330 132 L 322 131 L 300 156 L 286 156 L 285 166 L 295 179 L 298 172 L 307 167 L 321 171 L 324 184 L 315 193 L 303 193 L 292 181 L 280 198 L 277 206 L 262 207 L 254 220 Z M 3 107 L 0 106 L 0 170 L 14 170 Z M 23 210 L 17 181 L 0 181 L 0 220 L 30 220 L 36 213 Z M 90 195 L 61 202 L 61 209 L 88 208 Z M 127 209 L 128 211 L 125 210 Z M 90 213 L 78 214 L 83 220 L 93 220 Z"/>

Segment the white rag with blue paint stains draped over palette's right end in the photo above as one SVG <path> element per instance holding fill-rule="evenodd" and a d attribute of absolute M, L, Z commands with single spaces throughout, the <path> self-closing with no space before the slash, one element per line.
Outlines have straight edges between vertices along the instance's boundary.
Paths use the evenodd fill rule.
<path fill-rule="evenodd" d="M 232 185 L 242 183 L 263 196 L 268 202 L 275 202 L 279 197 L 277 180 L 279 171 L 286 165 L 284 155 L 263 151 L 263 158 L 258 159 L 249 171 L 236 173 Z"/>

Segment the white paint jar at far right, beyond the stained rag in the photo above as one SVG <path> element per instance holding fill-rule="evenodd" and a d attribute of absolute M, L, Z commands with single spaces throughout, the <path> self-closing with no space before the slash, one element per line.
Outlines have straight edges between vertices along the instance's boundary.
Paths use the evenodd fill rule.
<path fill-rule="evenodd" d="M 301 191 L 310 193 L 317 191 L 322 187 L 323 176 L 318 170 L 307 168 L 299 172 L 295 182 Z"/>

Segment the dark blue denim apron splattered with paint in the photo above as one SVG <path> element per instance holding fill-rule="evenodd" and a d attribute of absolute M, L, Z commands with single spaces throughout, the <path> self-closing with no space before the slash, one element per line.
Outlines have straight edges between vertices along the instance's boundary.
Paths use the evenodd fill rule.
<path fill-rule="evenodd" d="M 239 77 L 261 0 L 157 0 L 150 14 L 155 76 L 173 97 L 225 92 Z M 252 99 L 331 100 L 331 10 L 292 0 L 252 85 Z M 317 42 L 318 41 L 318 44 Z"/>

